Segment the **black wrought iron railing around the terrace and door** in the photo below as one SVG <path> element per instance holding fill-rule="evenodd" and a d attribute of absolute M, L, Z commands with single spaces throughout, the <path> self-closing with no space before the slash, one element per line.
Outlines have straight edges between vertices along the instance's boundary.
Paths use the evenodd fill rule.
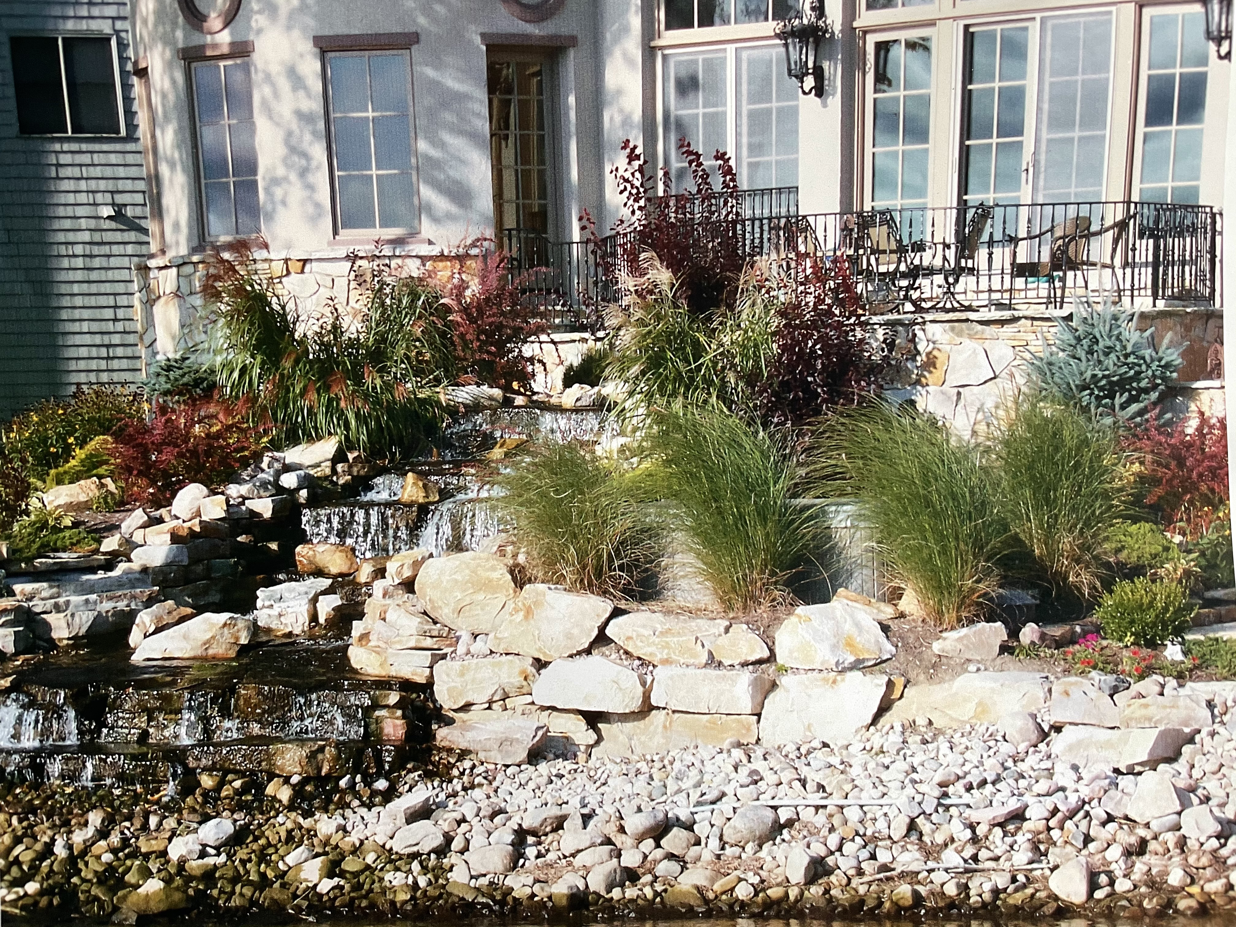
<path fill-rule="evenodd" d="M 844 261 L 873 314 L 1063 308 L 1083 294 L 1221 305 L 1220 216 L 1210 206 L 1117 200 L 779 215 L 751 205 L 740 218 L 701 221 L 692 241 L 723 242 L 748 260 Z M 506 247 L 525 295 L 551 323 L 574 326 L 617 297 L 640 243 L 629 231 L 596 245 L 512 231 Z"/>

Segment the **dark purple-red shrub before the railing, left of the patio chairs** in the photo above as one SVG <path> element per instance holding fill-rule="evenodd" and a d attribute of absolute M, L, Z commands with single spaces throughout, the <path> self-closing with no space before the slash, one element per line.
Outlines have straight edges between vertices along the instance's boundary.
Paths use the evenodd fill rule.
<path fill-rule="evenodd" d="M 769 376 L 755 384 L 760 418 L 800 426 L 875 391 L 881 347 L 868 337 L 843 258 L 797 258 L 777 308 Z"/>

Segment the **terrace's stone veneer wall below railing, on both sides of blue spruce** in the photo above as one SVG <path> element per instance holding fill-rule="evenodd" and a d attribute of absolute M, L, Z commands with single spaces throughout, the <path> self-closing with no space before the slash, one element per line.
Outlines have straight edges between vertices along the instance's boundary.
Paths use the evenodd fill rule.
<path fill-rule="evenodd" d="M 1026 381 L 1026 365 L 1056 337 L 1072 310 L 941 313 L 871 316 L 895 335 L 900 360 L 889 393 L 912 400 L 962 435 L 981 431 L 999 407 Z M 1173 404 L 1222 414 L 1222 310 L 1146 309 L 1138 328 L 1153 328 L 1185 345 Z M 1217 350 L 1216 350 L 1217 346 Z"/>

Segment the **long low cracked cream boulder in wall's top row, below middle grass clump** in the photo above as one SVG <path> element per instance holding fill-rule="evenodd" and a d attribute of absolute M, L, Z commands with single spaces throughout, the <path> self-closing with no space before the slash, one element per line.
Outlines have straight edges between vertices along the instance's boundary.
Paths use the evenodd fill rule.
<path fill-rule="evenodd" d="M 742 666 L 769 656 L 768 645 L 745 624 L 661 612 L 630 612 L 606 625 L 618 646 L 654 666 Z"/>

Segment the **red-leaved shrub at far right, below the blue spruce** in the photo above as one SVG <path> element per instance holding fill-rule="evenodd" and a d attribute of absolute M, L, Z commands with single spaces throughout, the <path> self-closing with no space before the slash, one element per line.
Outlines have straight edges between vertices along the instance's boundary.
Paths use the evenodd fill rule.
<path fill-rule="evenodd" d="M 1196 540 L 1226 518 L 1226 418 L 1201 413 L 1166 425 L 1152 413 L 1124 444 L 1141 464 L 1146 504 L 1162 513 L 1166 528 Z"/>

